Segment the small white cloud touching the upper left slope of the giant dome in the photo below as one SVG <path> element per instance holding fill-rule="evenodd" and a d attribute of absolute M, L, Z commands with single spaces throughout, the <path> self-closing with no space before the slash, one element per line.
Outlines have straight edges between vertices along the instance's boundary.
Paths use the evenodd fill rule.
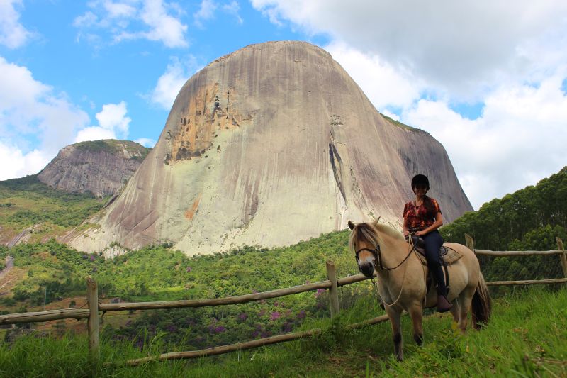
<path fill-rule="evenodd" d="M 172 57 L 172 62 L 167 65 L 164 74 L 157 79 L 157 84 L 150 94 L 150 101 L 169 111 L 183 84 L 192 74 L 201 70 L 201 67 L 193 56 L 186 57 L 183 61 Z"/>

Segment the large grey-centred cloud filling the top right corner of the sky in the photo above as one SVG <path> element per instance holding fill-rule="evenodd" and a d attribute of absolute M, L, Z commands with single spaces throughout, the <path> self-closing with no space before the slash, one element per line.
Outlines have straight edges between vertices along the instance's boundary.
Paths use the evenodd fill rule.
<path fill-rule="evenodd" d="M 436 91 L 478 99 L 486 87 L 553 69 L 567 58 L 567 3 L 420 0 L 252 0 L 274 23 L 329 35 Z M 561 42 L 563 44 L 561 44 Z M 539 47 L 546 48 L 541 54 Z M 548 54 L 549 52 L 549 54 Z M 497 84 L 498 87 L 498 84 Z"/>

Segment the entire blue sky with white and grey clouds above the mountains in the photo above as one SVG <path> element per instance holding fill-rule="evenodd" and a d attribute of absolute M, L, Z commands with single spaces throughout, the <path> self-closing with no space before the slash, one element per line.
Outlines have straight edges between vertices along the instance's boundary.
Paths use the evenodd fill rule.
<path fill-rule="evenodd" d="M 152 147 L 189 77 L 269 40 L 439 140 L 474 209 L 567 165 L 563 0 L 0 0 L 0 180 L 83 140 Z"/>

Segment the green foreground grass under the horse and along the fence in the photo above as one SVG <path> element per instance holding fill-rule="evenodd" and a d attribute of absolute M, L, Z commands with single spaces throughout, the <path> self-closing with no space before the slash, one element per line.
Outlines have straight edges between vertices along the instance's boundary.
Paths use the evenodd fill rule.
<path fill-rule="evenodd" d="M 335 321 L 308 321 L 324 328 L 312 338 L 199 360 L 125 367 L 135 357 L 176 350 L 158 335 L 137 348 L 102 340 L 101 358 L 89 362 L 84 336 L 27 336 L 0 343 L 1 377 L 565 377 L 567 374 L 567 290 L 532 287 L 496 299 L 493 318 L 481 331 L 461 335 L 451 316 L 424 322 L 425 344 L 411 338 L 403 318 L 405 361 L 393 358 L 390 327 L 381 323 L 347 331 L 344 324 L 378 315 L 376 301 L 361 298 Z M 141 330 L 143 332 L 143 330 Z"/>

